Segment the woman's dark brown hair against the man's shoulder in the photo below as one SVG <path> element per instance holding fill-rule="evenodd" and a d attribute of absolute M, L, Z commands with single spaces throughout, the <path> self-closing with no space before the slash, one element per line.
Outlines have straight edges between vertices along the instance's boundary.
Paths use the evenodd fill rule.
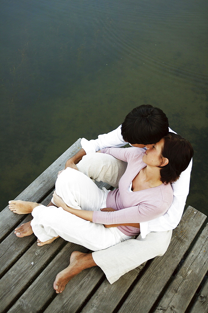
<path fill-rule="evenodd" d="M 164 140 L 161 155 L 168 158 L 169 162 L 167 165 L 159 167 L 161 167 L 161 181 L 167 184 L 175 182 L 180 177 L 181 172 L 185 171 L 191 162 L 194 149 L 188 140 L 172 132 L 169 132 Z"/>

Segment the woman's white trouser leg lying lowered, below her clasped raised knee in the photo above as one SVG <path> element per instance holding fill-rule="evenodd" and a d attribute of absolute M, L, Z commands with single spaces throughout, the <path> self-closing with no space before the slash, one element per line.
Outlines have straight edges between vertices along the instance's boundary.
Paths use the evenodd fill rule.
<path fill-rule="evenodd" d="M 116 227 L 105 228 L 102 224 L 86 221 L 55 206 L 39 205 L 33 209 L 32 216 L 32 230 L 42 242 L 59 235 L 96 251 L 130 238 Z"/>

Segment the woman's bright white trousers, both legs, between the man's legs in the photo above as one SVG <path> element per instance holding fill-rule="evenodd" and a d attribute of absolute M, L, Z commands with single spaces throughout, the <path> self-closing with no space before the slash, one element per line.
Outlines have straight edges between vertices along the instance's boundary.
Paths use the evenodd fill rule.
<path fill-rule="evenodd" d="M 89 177 L 67 167 L 57 178 L 56 193 L 70 207 L 97 211 L 106 207 L 108 190 L 99 189 Z M 53 202 L 53 199 L 52 199 Z M 105 249 L 132 237 L 118 228 L 105 228 L 79 218 L 61 207 L 37 206 L 32 211 L 32 230 L 44 242 L 58 235 L 63 239 L 85 246 L 93 251 Z"/>

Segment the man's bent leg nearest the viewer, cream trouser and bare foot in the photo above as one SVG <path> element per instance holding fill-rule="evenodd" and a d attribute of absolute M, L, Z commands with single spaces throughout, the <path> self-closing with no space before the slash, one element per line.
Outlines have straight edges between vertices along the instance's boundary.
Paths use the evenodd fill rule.
<path fill-rule="evenodd" d="M 116 246 L 93 253 L 74 251 L 69 266 L 60 272 L 54 282 L 56 292 L 62 292 L 66 284 L 83 269 L 100 266 L 112 284 L 131 269 L 148 259 L 163 255 L 170 243 L 172 231 L 152 232 L 145 239 L 132 239 Z M 121 264 L 122 255 L 122 264 Z M 123 260 L 124 258 L 124 260 Z"/>

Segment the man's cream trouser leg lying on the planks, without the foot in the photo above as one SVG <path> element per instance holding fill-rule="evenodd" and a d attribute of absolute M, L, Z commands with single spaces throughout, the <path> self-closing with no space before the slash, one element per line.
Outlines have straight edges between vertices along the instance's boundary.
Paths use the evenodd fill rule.
<path fill-rule="evenodd" d="M 172 230 L 151 232 L 142 239 L 124 241 L 116 246 L 92 253 L 95 263 L 101 267 L 112 284 L 122 275 L 145 261 L 163 255 L 170 243 Z"/>

